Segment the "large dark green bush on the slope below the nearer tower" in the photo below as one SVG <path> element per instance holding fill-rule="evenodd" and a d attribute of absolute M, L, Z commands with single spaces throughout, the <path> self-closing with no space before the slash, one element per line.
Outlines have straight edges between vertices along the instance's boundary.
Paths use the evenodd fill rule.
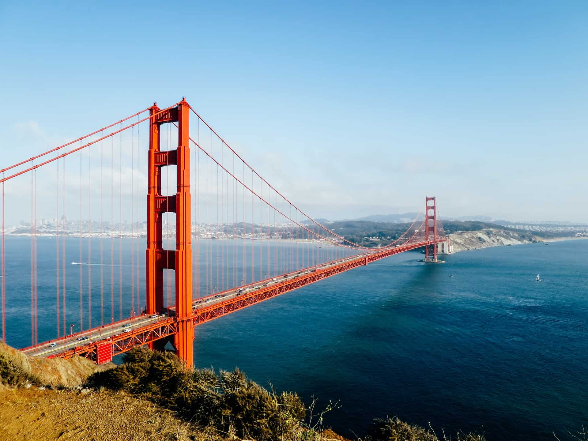
<path fill-rule="evenodd" d="M 243 372 L 185 369 L 173 353 L 135 348 L 125 363 L 92 375 L 89 385 L 124 389 L 174 410 L 179 416 L 240 438 L 293 438 L 305 417 L 295 393 L 276 395 Z"/>

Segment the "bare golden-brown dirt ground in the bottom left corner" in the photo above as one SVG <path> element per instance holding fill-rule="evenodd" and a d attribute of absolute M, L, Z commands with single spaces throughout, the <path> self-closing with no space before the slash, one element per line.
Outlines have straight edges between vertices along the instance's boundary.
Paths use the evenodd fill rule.
<path fill-rule="evenodd" d="M 3 441 L 199 439 L 170 412 L 124 392 L 0 386 L 0 403 Z"/>

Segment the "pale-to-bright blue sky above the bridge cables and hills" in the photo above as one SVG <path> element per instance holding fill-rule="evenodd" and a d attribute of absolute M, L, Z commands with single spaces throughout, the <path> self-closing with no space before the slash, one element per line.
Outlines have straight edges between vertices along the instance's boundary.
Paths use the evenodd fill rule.
<path fill-rule="evenodd" d="M 587 2 L 2 2 L 0 38 L 3 166 L 186 96 L 313 216 L 588 222 Z"/>

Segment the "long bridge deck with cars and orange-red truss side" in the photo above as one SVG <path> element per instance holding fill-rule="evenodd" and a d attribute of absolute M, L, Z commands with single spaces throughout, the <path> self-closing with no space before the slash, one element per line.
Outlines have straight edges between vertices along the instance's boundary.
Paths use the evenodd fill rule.
<path fill-rule="evenodd" d="M 444 240 L 437 239 L 438 242 Z M 359 255 L 289 272 L 276 276 L 276 278 L 260 280 L 249 285 L 243 285 L 240 288 L 214 293 L 213 295 L 193 300 L 191 319 L 195 325 L 200 325 L 235 310 L 246 308 L 246 306 L 276 295 L 309 285 L 309 283 L 317 282 L 358 266 L 367 265 L 375 260 L 431 245 L 432 243 L 435 242 L 429 240 L 427 242 L 410 243 L 409 241 L 403 245 L 397 245 L 395 248 L 375 249 Z M 142 314 L 119 322 L 109 323 L 99 328 L 49 340 L 40 345 L 29 346 L 21 350 L 27 355 L 48 358 L 69 358 L 78 354 L 95 359 L 96 346 L 101 343 L 108 343 L 112 346 L 112 355 L 117 355 L 126 352 L 133 346 L 145 345 L 173 335 L 176 332 L 174 316 L 174 308 L 169 308 L 168 312 L 162 315 L 148 316 Z"/>

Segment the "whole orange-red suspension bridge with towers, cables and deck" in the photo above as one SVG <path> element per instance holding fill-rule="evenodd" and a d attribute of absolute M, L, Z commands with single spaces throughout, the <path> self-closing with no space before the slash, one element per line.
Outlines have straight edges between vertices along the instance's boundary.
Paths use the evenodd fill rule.
<path fill-rule="evenodd" d="M 379 248 L 339 235 L 185 99 L 0 172 L 2 339 L 22 342 L 6 320 L 30 313 L 29 355 L 106 363 L 171 343 L 191 366 L 195 326 L 397 253 L 424 248 L 436 262 L 447 245 L 435 197 Z"/>

